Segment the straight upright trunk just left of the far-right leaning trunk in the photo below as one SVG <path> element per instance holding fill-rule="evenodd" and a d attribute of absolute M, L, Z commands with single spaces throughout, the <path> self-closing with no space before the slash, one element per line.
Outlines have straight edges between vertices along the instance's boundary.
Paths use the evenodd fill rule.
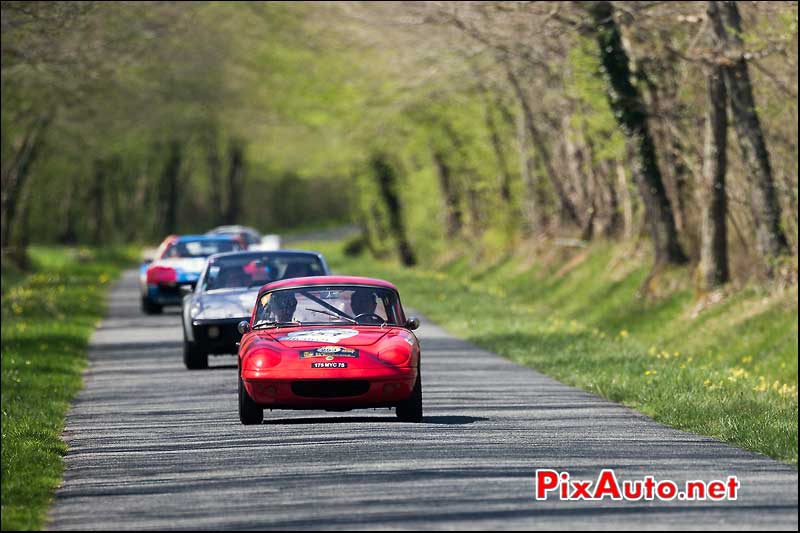
<path fill-rule="evenodd" d="M 706 80 L 703 187 L 698 199 L 701 211 L 698 283 L 703 291 L 713 290 L 730 279 L 725 195 L 728 116 L 721 67 L 709 66 Z"/>

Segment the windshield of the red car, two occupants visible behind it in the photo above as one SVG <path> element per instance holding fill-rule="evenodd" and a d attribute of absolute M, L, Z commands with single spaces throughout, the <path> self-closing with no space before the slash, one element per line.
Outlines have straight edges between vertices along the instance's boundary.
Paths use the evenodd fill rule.
<path fill-rule="evenodd" d="M 262 294 L 254 328 L 295 325 L 401 325 L 397 293 L 373 286 L 313 286 Z"/>

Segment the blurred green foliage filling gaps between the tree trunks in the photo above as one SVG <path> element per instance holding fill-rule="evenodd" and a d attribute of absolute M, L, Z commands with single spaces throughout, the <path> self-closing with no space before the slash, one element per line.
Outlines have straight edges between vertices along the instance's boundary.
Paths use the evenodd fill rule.
<path fill-rule="evenodd" d="M 593 188 L 589 193 L 596 196 L 607 194 L 606 188 L 609 195 L 617 194 L 613 200 L 620 200 L 614 169 L 626 161 L 625 142 L 609 108 L 595 40 L 562 28 L 551 47 L 531 47 L 516 38 L 518 32 L 523 27 L 544 30 L 549 22 L 522 5 L 494 9 L 476 2 L 465 7 L 465 16 L 483 36 L 480 46 L 446 24 L 392 22 L 415 20 L 416 15 L 437 20 L 446 6 L 435 3 L 32 6 L 3 3 L 9 22 L 3 34 L 0 145 L 6 169 L 29 124 L 54 114 L 16 221 L 34 241 L 85 242 L 98 224 L 106 228 L 107 242 L 158 240 L 169 211 L 177 213 L 178 231 L 202 231 L 219 222 L 231 194 L 242 198 L 239 222 L 267 231 L 349 218 L 385 234 L 378 191 L 362 179 L 365 161 L 376 151 L 400 161 L 409 238 L 423 258 L 449 245 L 433 152 L 441 152 L 452 170 L 464 225 L 458 238 L 480 248 L 513 246 L 530 229 L 531 221 L 522 215 L 532 191 L 536 215 L 553 226 L 536 231 L 576 233 L 560 224 L 560 202 L 549 178 L 565 184 L 567 194 L 582 204 L 577 206 L 581 213 L 592 209 L 582 188 Z M 587 16 L 583 8 L 567 9 L 573 8 L 571 16 Z M 682 153 L 674 155 L 692 167 L 689 178 L 701 170 L 698 117 L 703 115 L 704 85 L 700 64 L 679 55 L 691 55 L 698 33 L 691 24 L 675 21 L 695 11 L 691 5 L 655 6 L 652 15 L 626 23 L 632 57 L 651 69 L 651 81 L 666 95 L 663 111 L 682 143 Z M 797 35 L 796 5 L 746 9 L 745 15 L 748 47 L 791 52 L 788 60 L 785 54 L 767 55 L 759 59 L 757 72 L 751 69 L 791 229 L 796 227 L 792 165 L 797 143 L 791 142 L 796 121 L 782 118 L 797 112 L 786 97 L 796 92 L 796 46 L 791 46 Z M 496 26 L 493 17 L 498 17 Z M 15 53 L 23 49 L 25 54 Z M 509 57 L 501 60 L 499 50 L 508 50 Z M 520 80 L 555 176 L 547 176 L 544 155 L 531 140 L 521 139 L 520 101 L 506 69 Z M 570 117 L 571 133 L 564 132 L 564 116 Z M 500 168 L 492 129 L 508 168 Z M 586 186 L 572 175 L 569 156 L 562 153 L 565 136 L 578 140 L 582 153 L 590 155 L 579 165 L 584 181 L 591 175 L 602 187 Z M 231 192 L 227 172 L 235 139 L 245 145 L 245 185 Z M 173 141 L 181 144 L 183 154 L 180 193 L 176 205 L 165 206 L 160 176 L 165 147 Z M 667 164 L 665 147 L 656 148 L 659 162 Z M 521 163 L 528 156 L 534 156 L 532 175 L 530 183 L 523 183 Z M 90 209 L 97 189 L 93 169 L 111 161 L 116 163 L 102 189 L 103 206 Z M 731 167 L 737 168 L 735 160 Z M 500 194 L 506 174 L 510 199 Z M 740 207 L 747 177 L 738 174 L 733 171 L 729 180 L 737 200 L 731 206 L 740 212 L 734 218 L 748 223 L 751 215 Z M 698 211 L 692 185 L 687 183 L 683 192 L 690 216 Z M 336 208 L 315 204 L 309 209 L 303 201 L 316 194 Z M 636 194 L 629 196 L 636 204 Z M 611 203 L 597 210 L 615 209 Z M 637 205 L 632 207 L 637 211 Z M 684 228 L 687 241 L 696 240 L 696 226 Z M 751 245 L 747 229 L 743 240 Z M 382 245 L 373 240 L 372 249 L 382 253 Z"/>

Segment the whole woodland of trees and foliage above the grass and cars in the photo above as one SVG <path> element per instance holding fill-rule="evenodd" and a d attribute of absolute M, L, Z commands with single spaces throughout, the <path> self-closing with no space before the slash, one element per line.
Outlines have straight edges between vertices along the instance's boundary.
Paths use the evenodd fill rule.
<path fill-rule="evenodd" d="M 2 3 L 2 246 L 354 222 L 796 282 L 797 2 Z"/>

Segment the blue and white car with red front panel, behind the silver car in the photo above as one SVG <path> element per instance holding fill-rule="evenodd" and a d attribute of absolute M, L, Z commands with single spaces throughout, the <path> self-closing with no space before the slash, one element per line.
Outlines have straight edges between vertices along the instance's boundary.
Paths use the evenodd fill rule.
<path fill-rule="evenodd" d="M 142 311 L 158 314 L 166 305 L 181 305 L 184 290 L 194 288 L 210 255 L 242 248 L 229 235 L 170 235 L 139 269 Z"/>

